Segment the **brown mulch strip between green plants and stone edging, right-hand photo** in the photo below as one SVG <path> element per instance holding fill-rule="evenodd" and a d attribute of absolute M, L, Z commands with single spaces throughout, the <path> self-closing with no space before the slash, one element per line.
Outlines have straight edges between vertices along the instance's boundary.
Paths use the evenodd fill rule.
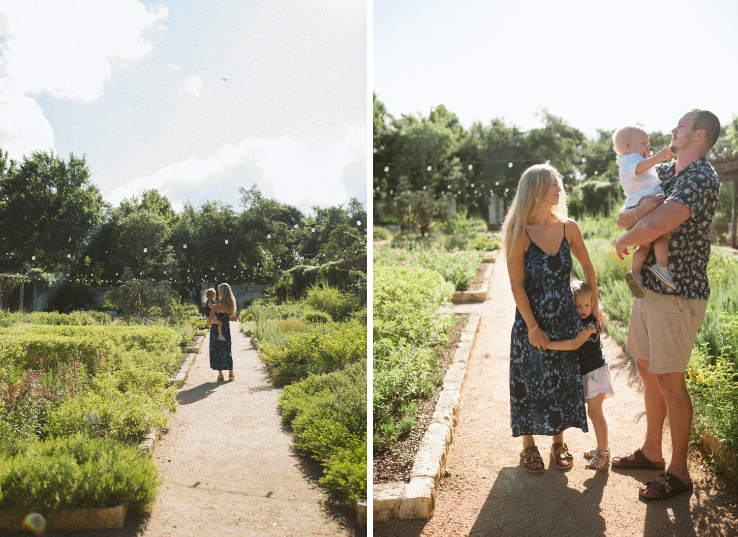
<path fill-rule="evenodd" d="M 456 353 L 456 347 L 461 340 L 461 334 L 466 328 L 468 315 L 457 315 L 456 324 L 449 332 L 449 342 L 444 347 L 444 353 L 438 358 L 438 369 L 443 373 L 449 369 Z M 415 415 L 415 427 L 412 431 L 402 435 L 393 449 L 382 443 L 382 447 L 374 453 L 373 482 L 396 483 L 410 481 L 410 471 L 413 469 L 413 460 L 418 452 L 423 435 L 428 429 L 430 420 L 435 411 L 435 403 L 441 396 L 441 386 L 436 387 L 430 398 L 418 401 L 420 407 Z"/>

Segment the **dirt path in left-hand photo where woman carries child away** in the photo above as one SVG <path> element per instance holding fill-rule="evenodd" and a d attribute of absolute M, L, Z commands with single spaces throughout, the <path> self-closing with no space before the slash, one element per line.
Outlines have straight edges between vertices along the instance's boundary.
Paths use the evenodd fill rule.
<path fill-rule="evenodd" d="M 355 515 L 325 502 L 317 464 L 294 452 L 276 409 L 280 390 L 238 329 L 232 323 L 236 380 L 215 381 L 206 339 L 179 390 L 154 454 L 162 486 L 151 518 L 106 535 L 356 535 Z"/>

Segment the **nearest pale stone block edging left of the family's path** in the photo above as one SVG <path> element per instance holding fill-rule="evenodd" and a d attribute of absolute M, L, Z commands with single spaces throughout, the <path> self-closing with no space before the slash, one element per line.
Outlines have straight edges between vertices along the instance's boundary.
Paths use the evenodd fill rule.
<path fill-rule="evenodd" d="M 446 454 L 453 440 L 461 405 L 461 387 L 466 378 L 466 364 L 472 356 L 479 324 L 479 313 L 472 313 L 461 334 L 452 364 L 444 376 L 441 396 L 435 404 L 428 430 L 415 454 L 410 482 L 373 485 L 373 519 L 376 522 L 390 519 L 430 519 L 432 516 L 435 491 L 446 467 Z"/>

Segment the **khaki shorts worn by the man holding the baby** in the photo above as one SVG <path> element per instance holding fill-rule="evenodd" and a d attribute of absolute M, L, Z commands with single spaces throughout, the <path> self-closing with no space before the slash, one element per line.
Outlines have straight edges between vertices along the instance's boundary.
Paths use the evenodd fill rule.
<path fill-rule="evenodd" d="M 684 373 L 706 311 L 707 300 L 646 289 L 645 297 L 633 299 L 625 350 L 648 360 L 651 373 Z"/>

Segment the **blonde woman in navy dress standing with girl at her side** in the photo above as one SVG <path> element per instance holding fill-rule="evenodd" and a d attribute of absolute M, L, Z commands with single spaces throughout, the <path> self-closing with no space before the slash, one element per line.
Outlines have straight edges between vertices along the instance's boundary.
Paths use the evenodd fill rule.
<path fill-rule="evenodd" d="M 537 164 L 520 177 L 503 224 L 512 294 L 517 305 L 510 344 L 510 425 L 523 436 L 520 465 L 544 470 L 534 434 L 553 436 L 556 468 L 571 468 L 564 430 L 587 432 L 582 376 L 576 350 L 551 350 L 551 339 L 573 339 L 581 325 L 569 284 L 571 254 L 593 289 L 599 324 L 595 271 L 582 232 L 567 218 L 566 193 L 554 167 Z"/>

